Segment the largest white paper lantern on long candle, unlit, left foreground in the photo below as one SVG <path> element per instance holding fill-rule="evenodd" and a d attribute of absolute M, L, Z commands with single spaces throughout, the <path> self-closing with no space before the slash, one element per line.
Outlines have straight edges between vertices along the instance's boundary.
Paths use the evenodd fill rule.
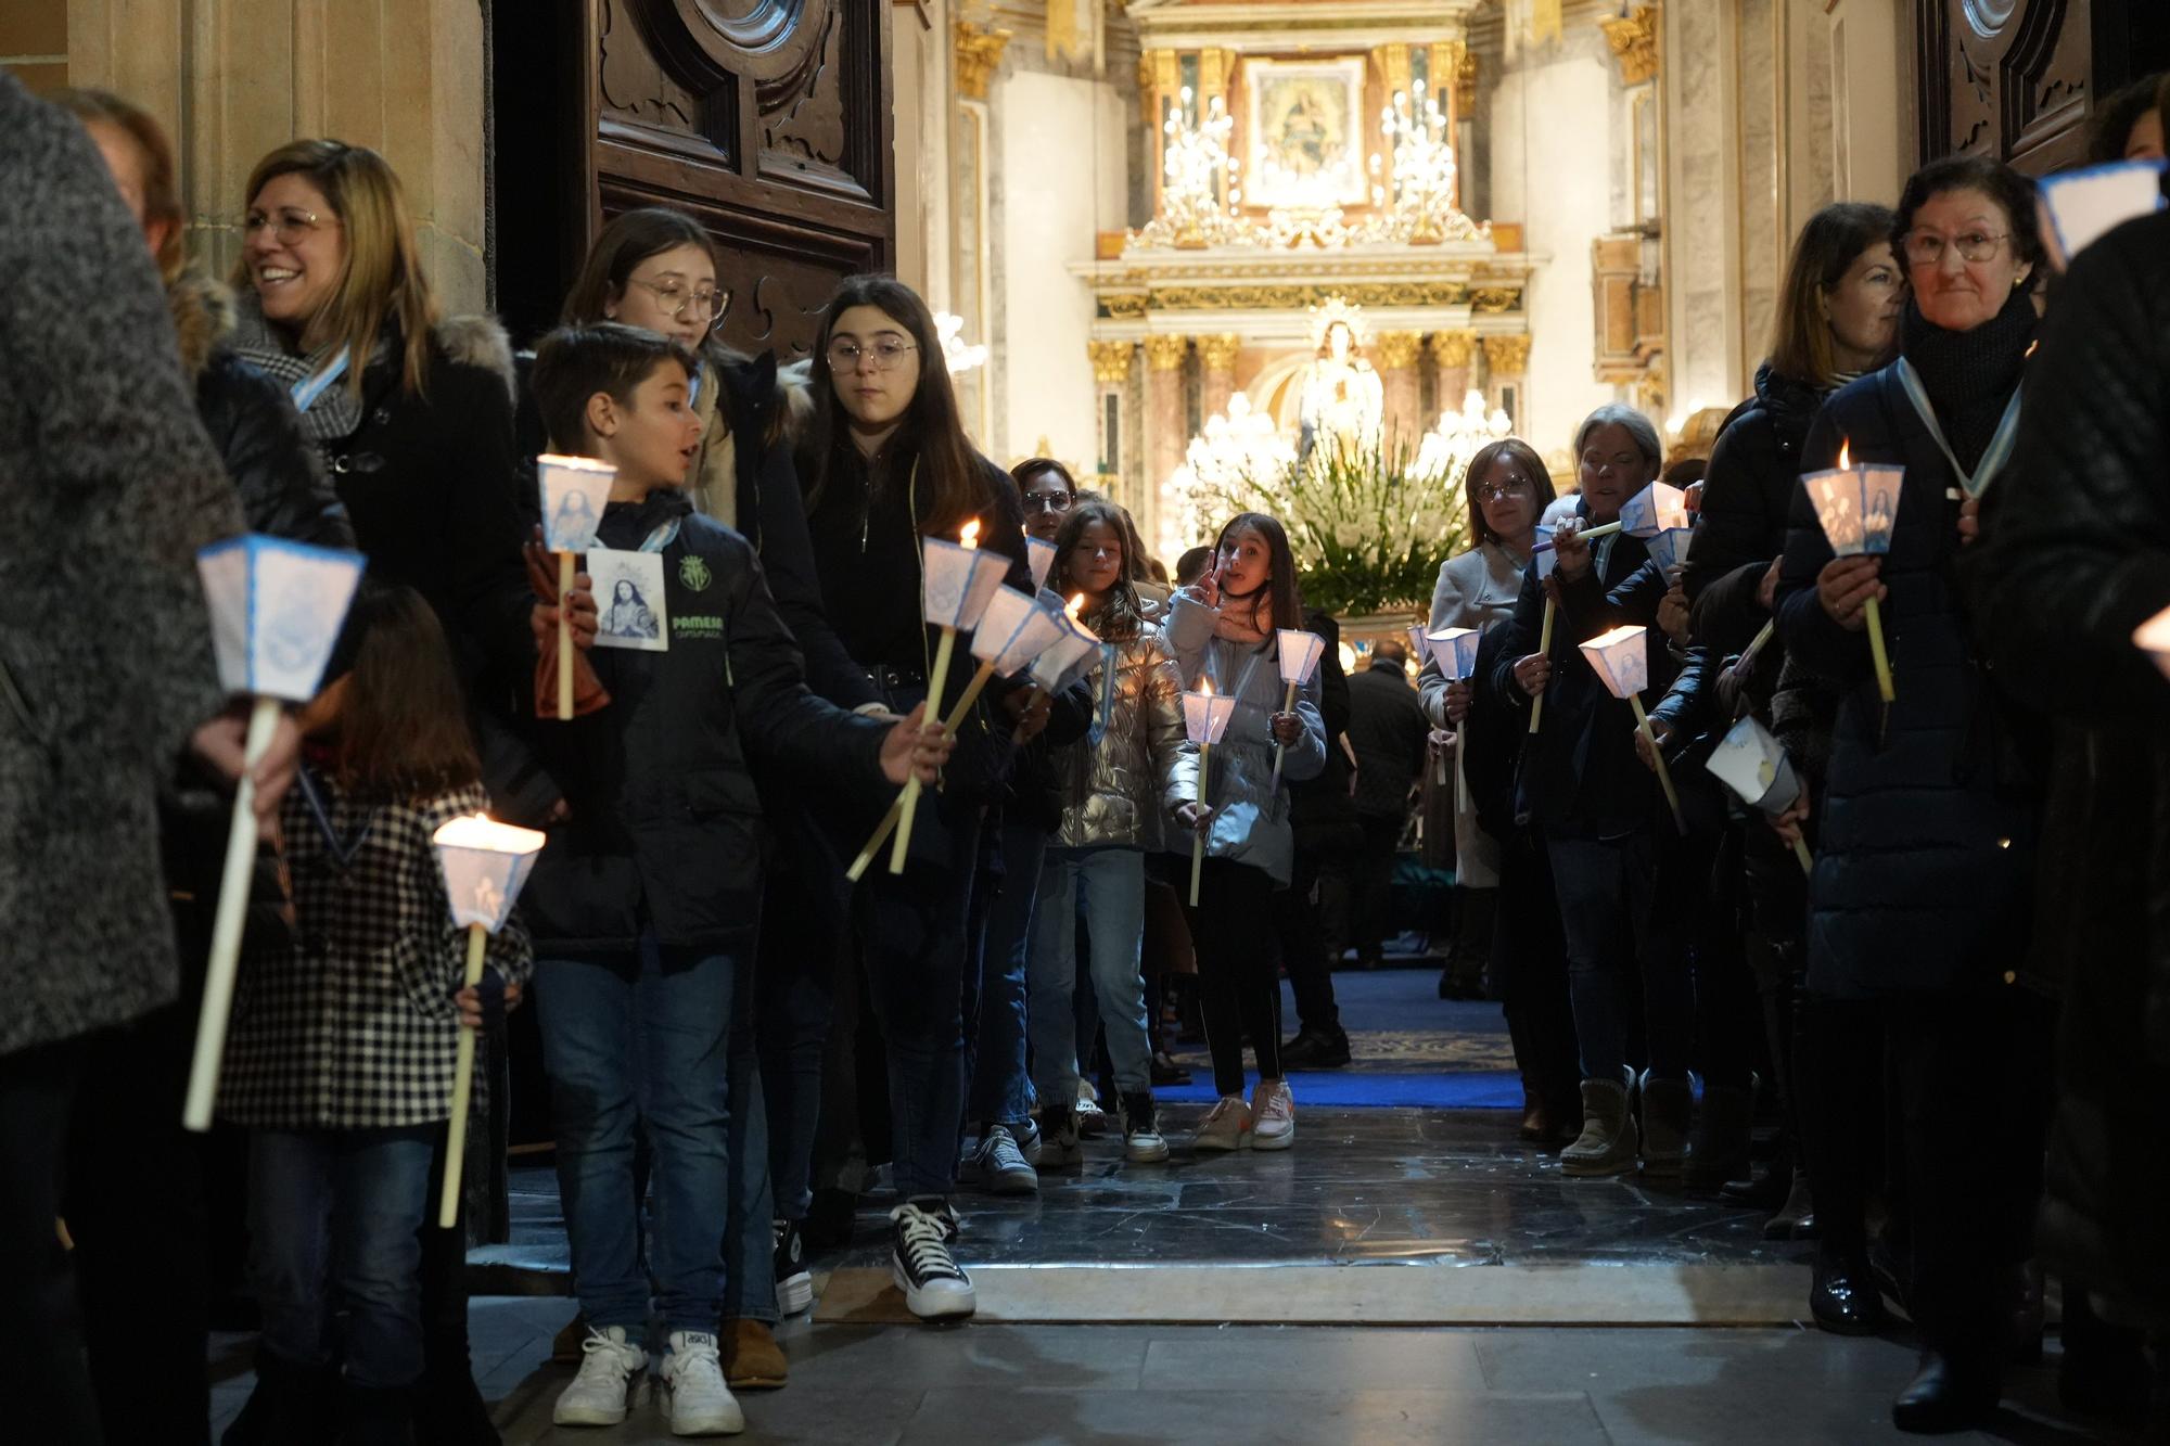
<path fill-rule="evenodd" d="M 226 1057 L 226 1023 L 234 1005 L 241 927 L 256 871 L 256 771 L 278 734 L 280 701 L 306 703 L 339 643 L 347 604 L 362 580 L 362 556 L 271 536 L 239 536 L 195 556 L 210 606 L 210 645 L 228 693 L 254 699 L 234 788 L 219 908 L 210 925 L 204 1005 L 195 1023 L 195 1057 L 182 1125 L 210 1129 Z"/>

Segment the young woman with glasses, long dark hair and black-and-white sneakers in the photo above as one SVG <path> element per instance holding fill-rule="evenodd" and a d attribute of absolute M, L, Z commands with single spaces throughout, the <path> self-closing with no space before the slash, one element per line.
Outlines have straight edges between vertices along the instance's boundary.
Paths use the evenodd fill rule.
<path fill-rule="evenodd" d="M 1031 591 L 1024 517 L 1009 473 L 974 452 L 957 415 L 927 304 L 888 276 L 835 289 L 814 341 L 814 417 L 801 447 L 814 562 L 829 619 L 894 712 L 929 690 L 935 632 L 920 610 L 920 543 L 979 523 L 979 545 L 1011 558 Z M 942 697 L 972 673 L 957 649 Z M 963 1125 L 963 971 L 979 812 L 1011 769 L 1009 712 L 1022 690 L 990 688 L 959 730 L 944 788 L 920 799 L 905 871 L 875 862 L 853 899 L 870 1003 L 890 1047 L 896 1194 L 890 1272 L 916 1316 L 970 1316 L 972 1281 L 950 1244 L 948 1196 Z M 1000 699 L 1000 701 L 996 701 Z M 1037 714 L 1044 721 L 1044 710 Z M 859 836 L 875 819 L 859 819 Z"/>

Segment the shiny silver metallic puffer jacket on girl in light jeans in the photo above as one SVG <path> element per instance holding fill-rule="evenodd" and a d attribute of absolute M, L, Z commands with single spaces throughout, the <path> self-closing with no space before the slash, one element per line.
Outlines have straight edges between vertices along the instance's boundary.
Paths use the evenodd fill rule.
<path fill-rule="evenodd" d="M 1113 682 L 1107 656 L 1115 656 Z M 1150 623 L 1135 638 L 1102 645 L 1087 684 L 1094 725 L 1107 732 L 1055 749 L 1055 784 L 1063 823 L 1048 840 L 1057 849 L 1161 849 L 1167 810 L 1189 801 L 1172 790 L 1183 751 L 1183 684 L 1174 656 Z M 1113 688 L 1113 693 L 1109 690 Z"/>

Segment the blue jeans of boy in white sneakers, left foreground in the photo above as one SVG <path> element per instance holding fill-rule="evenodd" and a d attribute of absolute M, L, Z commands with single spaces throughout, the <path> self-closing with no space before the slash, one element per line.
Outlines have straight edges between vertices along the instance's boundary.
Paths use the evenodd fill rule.
<path fill-rule="evenodd" d="M 714 1331 L 731 1209 L 729 1033 L 738 960 L 664 949 L 536 960 L 536 1016 L 558 1136 L 573 1285 L 590 1327 Z M 640 1270 L 634 1125 L 649 1138 L 649 1272 Z M 768 1270 L 766 1253 L 762 1270 Z"/>

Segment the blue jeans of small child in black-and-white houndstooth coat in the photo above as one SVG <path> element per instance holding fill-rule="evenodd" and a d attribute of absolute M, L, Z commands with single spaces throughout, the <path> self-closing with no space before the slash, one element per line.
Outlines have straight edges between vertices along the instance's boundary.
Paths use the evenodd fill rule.
<path fill-rule="evenodd" d="M 347 1311 L 347 1379 L 421 1379 L 421 1238 L 443 1125 L 250 1131 L 250 1283 L 263 1346 L 293 1366 L 332 1359 Z"/>

